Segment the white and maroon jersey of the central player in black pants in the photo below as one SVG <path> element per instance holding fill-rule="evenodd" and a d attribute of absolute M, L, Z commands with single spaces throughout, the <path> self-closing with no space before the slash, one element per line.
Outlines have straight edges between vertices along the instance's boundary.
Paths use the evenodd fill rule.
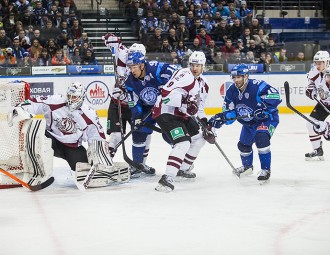
<path fill-rule="evenodd" d="M 204 105 L 209 91 L 205 76 L 195 78 L 190 68 L 183 68 L 173 74 L 172 78 L 162 88 L 162 94 L 158 97 L 153 110 L 153 117 L 169 113 L 187 119 L 187 104 L 183 103 L 186 98 L 195 96 L 198 103 L 197 116 L 206 117 Z"/>

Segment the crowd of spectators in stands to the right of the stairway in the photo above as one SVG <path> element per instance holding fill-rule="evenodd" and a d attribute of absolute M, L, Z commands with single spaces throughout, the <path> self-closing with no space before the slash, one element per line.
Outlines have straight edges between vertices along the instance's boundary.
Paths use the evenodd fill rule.
<path fill-rule="evenodd" d="M 202 50 L 207 64 L 304 63 L 301 49 L 287 53 L 282 43 L 253 17 L 242 0 L 132 0 L 125 7 L 132 29 L 148 55 L 183 64 Z M 161 53 L 161 54 L 160 54 Z M 157 57 L 158 58 L 158 57 Z"/>

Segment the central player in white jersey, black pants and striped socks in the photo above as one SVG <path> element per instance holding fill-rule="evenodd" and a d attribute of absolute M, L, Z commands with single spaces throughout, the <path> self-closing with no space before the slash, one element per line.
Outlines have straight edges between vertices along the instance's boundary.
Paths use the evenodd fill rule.
<path fill-rule="evenodd" d="M 199 125 L 192 116 L 197 115 L 205 124 L 207 123 L 204 102 L 208 85 L 202 75 L 205 61 L 203 52 L 193 52 L 189 57 L 190 66 L 172 76 L 163 87 L 153 109 L 153 117 L 172 144 L 165 174 L 158 182 L 157 191 L 174 190 L 175 176 L 196 177 L 196 174 L 190 171 L 190 167 L 205 144 L 205 139 L 199 133 Z M 214 139 L 214 136 L 206 136 L 209 141 L 212 138 Z"/>

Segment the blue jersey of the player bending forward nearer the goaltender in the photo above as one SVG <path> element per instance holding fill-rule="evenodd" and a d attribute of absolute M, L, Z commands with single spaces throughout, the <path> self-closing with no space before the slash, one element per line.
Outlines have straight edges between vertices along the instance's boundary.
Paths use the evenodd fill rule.
<path fill-rule="evenodd" d="M 137 79 L 130 74 L 125 82 L 132 118 L 141 118 L 151 111 L 164 84 L 171 78 L 176 66 L 156 61 L 145 63 L 146 75 Z"/>

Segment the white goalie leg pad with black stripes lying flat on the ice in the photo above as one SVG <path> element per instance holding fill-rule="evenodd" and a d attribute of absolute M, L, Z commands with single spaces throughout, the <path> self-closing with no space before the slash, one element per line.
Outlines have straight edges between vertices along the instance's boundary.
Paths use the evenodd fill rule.
<path fill-rule="evenodd" d="M 99 188 L 111 185 L 112 183 L 125 183 L 130 180 L 128 164 L 115 162 L 112 166 L 95 165 L 96 171 L 89 180 L 88 187 Z M 76 181 L 77 185 L 83 185 L 86 175 L 91 169 L 88 163 L 77 163 Z"/>

